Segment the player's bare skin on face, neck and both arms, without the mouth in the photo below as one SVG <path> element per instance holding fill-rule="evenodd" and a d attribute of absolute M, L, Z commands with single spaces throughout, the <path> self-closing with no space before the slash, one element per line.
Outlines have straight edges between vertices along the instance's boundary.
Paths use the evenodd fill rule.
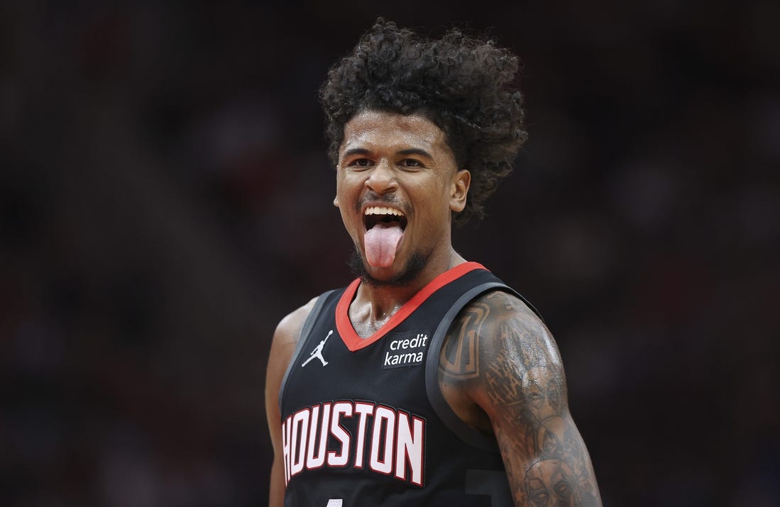
<path fill-rule="evenodd" d="M 470 173 L 456 166 L 444 132 L 419 114 L 363 111 L 344 132 L 334 204 L 366 272 L 375 280 L 396 280 L 415 253 L 425 259 L 410 283 L 360 284 L 349 319 L 366 337 L 435 276 L 465 262 L 452 248 L 451 217 L 465 206 Z M 406 220 L 388 266 L 367 262 L 370 206 L 390 206 Z M 271 507 L 284 502 L 279 386 L 314 301 L 282 319 L 271 346 Z M 463 421 L 498 439 L 516 506 L 601 505 L 590 457 L 569 414 L 555 341 L 522 301 L 496 292 L 463 308 L 445 337 L 438 380 Z"/>

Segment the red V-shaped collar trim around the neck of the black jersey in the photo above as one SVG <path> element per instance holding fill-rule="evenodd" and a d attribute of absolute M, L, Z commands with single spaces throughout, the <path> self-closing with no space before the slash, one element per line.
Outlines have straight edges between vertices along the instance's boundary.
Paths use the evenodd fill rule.
<path fill-rule="evenodd" d="M 339 304 L 336 305 L 336 329 L 339 330 L 339 335 L 342 337 L 342 341 L 349 350 L 355 352 L 363 347 L 368 347 L 371 343 L 379 340 L 382 336 L 385 336 L 392 331 L 395 326 L 398 326 L 403 322 L 403 320 L 417 310 L 431 294 L 441 289 L 441 287 L 444 287 L 447 283 L 457 280 L 474 269 L 487 270 L 487 268 L 482 266 L 479 262 L 463 262 L 463 264 L 459 264 L 458 266 L 441 273 L 439 276 L 436 276 L 436 278 L 428 282 L 425 287 L 420 289 L 420 292 L 414 294 L 409 301 L 406 301 L 406 303 L 399 308 L 398 312 L 395 312 L 395 314 L 390 317 L 390 320 L 385 322 L 384 326 L 381 326 L 376 333 L 367 338 L 358 336 L 358 334 L 355 333 L 352 321 L 349 320 L 349 305 L 355 297 L 357 287 L 360 286 L 360 278 L 356 278 L 349 284 L 349 287 L 344 290 L 344 294 L 342 294 L 342 297 L 339 299 Z"/>

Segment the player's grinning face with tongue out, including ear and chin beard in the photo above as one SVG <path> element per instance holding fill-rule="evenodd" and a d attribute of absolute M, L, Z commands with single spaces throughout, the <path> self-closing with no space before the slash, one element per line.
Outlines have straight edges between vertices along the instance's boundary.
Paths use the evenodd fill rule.
<path fill-rule="evenodd" d="M 463 210 L 470 174 L 458 171 L 432 121 L 356 114 L 344 127 L 336 169 L 334 203 L 367 276 L 387 282 L 403 279 L 407 266 L 449 264 L 451 212 Z"/>

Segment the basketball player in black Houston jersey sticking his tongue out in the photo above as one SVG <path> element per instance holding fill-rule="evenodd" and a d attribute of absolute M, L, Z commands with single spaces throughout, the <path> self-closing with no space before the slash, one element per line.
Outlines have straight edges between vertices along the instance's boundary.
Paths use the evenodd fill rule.
<path fill-rule="evenodd" d="M 276 329 L 270 504 L 601 505 L 548 329 L 453 248 L 526 139 L 515 56 L 379 19 L 321 101 L 356 279 Z"/>

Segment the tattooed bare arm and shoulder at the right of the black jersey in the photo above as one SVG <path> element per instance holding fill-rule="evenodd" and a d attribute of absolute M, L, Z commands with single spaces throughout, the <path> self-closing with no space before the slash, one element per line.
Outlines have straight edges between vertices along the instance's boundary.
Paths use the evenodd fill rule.
<path fill-rule="evenodd" d="M 515 505 L 601 505 L 555 340 L 522 301 L 492 292 L 464 308 L 439 383 L 463 421 L 495 434 Z"/>

